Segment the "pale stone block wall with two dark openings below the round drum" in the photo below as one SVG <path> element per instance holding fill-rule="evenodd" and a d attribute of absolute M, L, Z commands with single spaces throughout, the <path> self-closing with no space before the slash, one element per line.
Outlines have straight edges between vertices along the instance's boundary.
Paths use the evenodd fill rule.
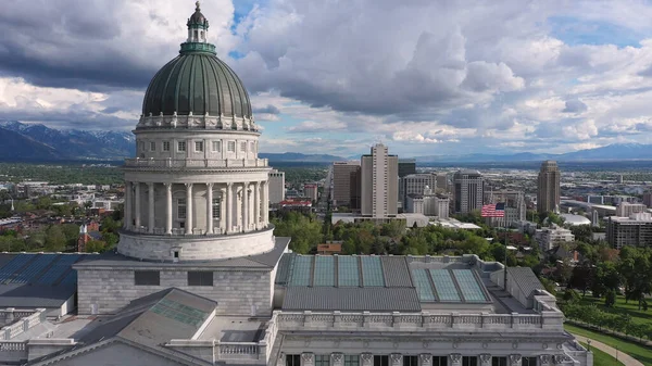
<path fill-rule="evenodd" d="M 150 268 L 148 268 L 150 269 Z M 154 269 L 154 268 L 152 268 Z M 77 270 L 78 312 L 114 314 L 130 301 L 176 287 L 217 302 L 218 315 L 269 316 L 274 277 L 269 269 L 238 270 L 221 268 L 213 273 L 213 286 L 188 286 L 187 270 L 208 268 L 160 268 L 160 286 L 134 286 L 133 268 Z"/>

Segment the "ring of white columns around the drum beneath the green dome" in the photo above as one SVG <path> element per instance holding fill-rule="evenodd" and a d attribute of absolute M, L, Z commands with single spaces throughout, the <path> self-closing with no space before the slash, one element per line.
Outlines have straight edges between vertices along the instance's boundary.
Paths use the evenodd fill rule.
<path fill-rule="evenodd" d="M 142 215 L 142 188 L 147 185 L 147 220 Z M 173 189 L 185 186 L 185 217 L 177 217 L 184 223 L 184 230 L 175 227 Z M 156 212 L 155 192 L 164 187 L 165 211 Z M 198 202 L 193 193 L 205 190 L 205 223 L 203 218 L 195 219 L 195 204 Z M 178 199 L 178 198 L 177 198 Z M 218 199 L 220 217 L 213 215 L 213 200 Z M 174 184 L 163 182 L 125 182 L 125 224 L 130 231 L 145 231 L 152 235 L 212 235 L 236 234 L 260 230 L 267 226 L 269 217 L 269 186 L 266 180 L 244 182 L 202 182 Z M 160 206 L 160 205 L 159 205 Z M 253 209 L 253 210 L 250 210 Z M 178 207 L 177 207 L 178 210 Z M 164 215 L 164 228 L 156 228 L 156 217 Z M 159 219 L 159 222 L 161 222 Z M 217 229 L 215 222 L 218 223 Z M 145 225 L 143 225 L 145 224 Z"/>

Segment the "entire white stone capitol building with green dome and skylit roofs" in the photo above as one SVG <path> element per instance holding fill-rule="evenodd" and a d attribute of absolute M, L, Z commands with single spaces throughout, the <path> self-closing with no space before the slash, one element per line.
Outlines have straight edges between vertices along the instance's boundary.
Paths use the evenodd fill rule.
<path fill-rule="evenodd" d="M 0 364 L 593 364 L 530 268 L 289 251 L 246 86 L 199 3 L 187 26 L 145 94 L 116 250 L 0 257 Z"/>

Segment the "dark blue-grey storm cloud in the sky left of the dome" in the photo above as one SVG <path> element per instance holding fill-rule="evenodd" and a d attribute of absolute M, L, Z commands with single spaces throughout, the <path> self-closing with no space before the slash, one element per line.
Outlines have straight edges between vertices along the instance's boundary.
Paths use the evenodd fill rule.
<path fill-rule="evenodd" d="M 0 75 L 93 91 L 147 87 L 160 62 L 143 62 L 134 45 L 120 47 L 121 24 L 130 20 L 118 10 L 110 1 L 4 0 Z"/>

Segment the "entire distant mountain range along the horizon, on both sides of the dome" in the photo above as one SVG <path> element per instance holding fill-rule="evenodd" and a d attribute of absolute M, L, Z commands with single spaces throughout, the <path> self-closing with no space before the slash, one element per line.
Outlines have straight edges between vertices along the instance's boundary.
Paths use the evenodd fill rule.
<path fill-rule="evenodd" d="M 126 131 L 85 131 L 54 129 L 40 124 L 0 121 L 0 161 L 50 160 L 122 160 L 134 156 L 136 138 Z M 360 160 L 360 155 L 341 157 L 328 154 L 297 152 L 263 153 L 260 157 L 272 162 L 330 163 Z M 622 161 L 652 160 L 652 144 L 615 143 L 597 149 L 578 150 L 564 154 L 459 154 L 416 156 L 416 162 L 427 163 L 507 163 L 556 160 Z"/>

